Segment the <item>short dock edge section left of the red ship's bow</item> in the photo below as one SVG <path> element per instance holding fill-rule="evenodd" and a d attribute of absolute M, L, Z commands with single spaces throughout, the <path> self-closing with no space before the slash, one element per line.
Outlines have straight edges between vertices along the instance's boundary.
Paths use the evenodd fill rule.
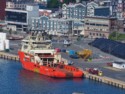
<path fill-rule="evenodd" d="M 0 52 L 0 58 L 19 61 L 19 57 L 17 55 L 5 53 L 5 52 Z"/>

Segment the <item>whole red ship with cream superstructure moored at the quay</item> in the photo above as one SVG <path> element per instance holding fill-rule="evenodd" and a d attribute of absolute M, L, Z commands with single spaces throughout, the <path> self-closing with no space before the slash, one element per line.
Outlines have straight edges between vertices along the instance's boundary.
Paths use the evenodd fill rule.
<path fill-rule="evenodd" d="M 36 36 L 23 40 L 22 49 L 18 52 L 24 69 L 55 78 L 83 77 L 81 70 L 64 64 L 61 54 L 51 48 L 49 41 L 39 34 Z"/>

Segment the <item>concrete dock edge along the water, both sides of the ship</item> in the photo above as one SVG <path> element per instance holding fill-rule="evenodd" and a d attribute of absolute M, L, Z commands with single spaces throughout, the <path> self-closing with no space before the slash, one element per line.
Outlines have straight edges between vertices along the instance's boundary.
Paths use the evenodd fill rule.
<path fill-rule="evenodd" d="M 15 61 L 19 61 L 19 57 L 17 55 L 14 54 L 10 54 L 10 53 L 5 53 L 5 52 L 0 52 L 0 58 L 3 59 L 8 59 L 8 60 L 15 60 Z M 87 79 L 91 79 L 100 83 L 105 83 L 111 86 L 115 86 L 121 89 L 125 89 L 125 82 L 124 81 L 120 81 L 117 79 L 113 79 L 110 77 L 106 77 L 106 76 L 97 76 L 97 75 L 93 75 L 90 74 L 86 71 L 84 71 L 83 69 L 80 68 L 80 70 L 83 71 L 85 78 Z"/>

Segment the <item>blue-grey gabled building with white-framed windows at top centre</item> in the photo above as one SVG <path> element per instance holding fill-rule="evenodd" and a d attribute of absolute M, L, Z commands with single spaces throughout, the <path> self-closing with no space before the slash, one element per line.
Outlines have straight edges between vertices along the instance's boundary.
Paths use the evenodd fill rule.
<path fill-rule="evenodd" d="M 86 5 L 82 3 L 77 4 L 63 4 L 62 17 L 65 19 L 83 20 L 86 15 Z"/>

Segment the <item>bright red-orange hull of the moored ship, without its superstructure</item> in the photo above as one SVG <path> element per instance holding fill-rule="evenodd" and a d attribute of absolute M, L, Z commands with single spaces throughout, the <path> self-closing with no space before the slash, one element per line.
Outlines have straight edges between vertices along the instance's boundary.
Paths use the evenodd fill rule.
<path fill-rule="evenodd" d="M 83 72 L 73 66 L 64 65 L 63 69 L 59 66 L 57 67 L 49 67 L 49 66 L 41 66 L 39 64 L 35 64 L 30 61 L 30 57 L 26 58 L 25 53 L 22 51 L 18 52 L 20 62 L 22 63 L 22 67 L 26 70 L 40 73 L 42 75 L 55 77 L 55 78 L 80 78 L 83 77 Z"/>

